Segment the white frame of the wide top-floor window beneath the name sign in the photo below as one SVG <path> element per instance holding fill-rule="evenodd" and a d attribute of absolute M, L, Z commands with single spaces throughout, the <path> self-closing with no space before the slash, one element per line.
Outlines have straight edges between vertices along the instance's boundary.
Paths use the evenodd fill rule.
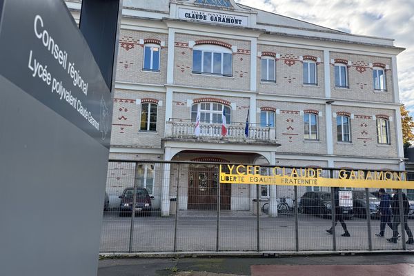
<path fill-rule="evenodd" d="M 194 65 L 195 65 L 195 51 L 201 52 L 201 60 L 200 62 L 200 68 L 201 71 L 195 71 Z M 208 52 L 211 55 L 211 66 L 210 66 L 210 72 L 204 72 L 204 55 Z M 220 54 L 220 73 L 214 72 L 214 66 L 215 66 L 215 54 Z M 231 65 L 230 65 L 230 74 L 224 73 L 224 54 L 230 55 L 231 57 Z M 221 76 L 221 77 L 233 77 L 233 51 L 229 48 L 223 47 L 223 46 L 217 46 L 212 44 L 201 44 L 193 47 L 193 64 L 191 68 L 191 72 L 193 74 L 197 75 L 214 75 L 214 76 Z"/>

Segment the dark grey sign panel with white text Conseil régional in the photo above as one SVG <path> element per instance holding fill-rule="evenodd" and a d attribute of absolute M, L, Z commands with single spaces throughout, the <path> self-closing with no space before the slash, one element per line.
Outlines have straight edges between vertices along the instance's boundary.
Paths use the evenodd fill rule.
<path fill-rule="evenodd" d="M 3 77 L 109 148 L 110 91 L 63 1 L 6 1 L 0 41 Z"/>

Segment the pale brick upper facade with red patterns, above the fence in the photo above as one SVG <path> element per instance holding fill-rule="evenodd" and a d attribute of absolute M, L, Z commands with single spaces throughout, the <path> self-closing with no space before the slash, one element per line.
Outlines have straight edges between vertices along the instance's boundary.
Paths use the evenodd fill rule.
<path fill-rule="evenodd" d="M 233 0 L 231 8 L 199 6 L 193 0 L 162 0 L 148 8 L 147 2 L 128 1 L 123 11 L 110 159 L 219 157 L 251 164 L 264 157 L 271 165 L 404 170 L 395 61 L 404 49 L 393 46 L 392 39 L 354 36 L 237 5 Z M 76 18 L 80 4 L 67 3 Z M 208 17 L 226 14 L 243 21 L 239 25 L 211 23 L 184 18 L 184 11 Z M 159 46 L 159 72 L 143 70 L 146 43 Z M 231 52 L 231 76 L 194 72 L 195 49 L 209 45 Z M 269 57 L 275 64 L 275 81 L 262 81 L 262 59 Z M 307 59 L 316 64 L 315 85 L 303 81 Z M 335 87 L 337 62 L 346 66 L 346 88 Z M 386 76 L 381 91 L 373 87 L 373 68 L 377 66 L 382 66 Z M 154 131 L 140 129 L 141 99 L 157 102 Z M 229 128 L 234 133 L 244 130 L 250 110 L 250 126 L 262 136 L 245 141 L 241 132 L 218 140 L 195 139 L 191 122 L 195 102 L 230 107 Z M 275 127 L 263 127 L 264 132 L 259 129 L 262 110 L 275 114 Z M 317 112 L 317 139 L 313 140 L 304 137 L 304 115 L 309 110 Z M 351 120 L 350 141 L 337 141 L 336 118 L 341 114 Z M 377 141 L 379 115 L 388 121 L 386 144 Z M 168 214 L 168 199 L 175 197 L 176 191 L 168 186 L 173 178 L 172 174 L 155 183 L 155 206 L 163 215 Z M 186 209 L 187 182 L 181 182 L 179 208 Z M 288 193 L 278 196 L 290 196 Z M 236 200 L 241 195 L 246 202 Z M 231 196 L 233 210 L 248 210 L 255 190 L 240 186 L 232 188 Z"/>

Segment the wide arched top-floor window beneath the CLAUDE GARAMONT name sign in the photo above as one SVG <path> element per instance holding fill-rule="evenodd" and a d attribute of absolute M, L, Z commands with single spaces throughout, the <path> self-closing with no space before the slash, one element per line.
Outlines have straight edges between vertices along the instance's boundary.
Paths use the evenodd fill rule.
<path fill-rule="evenodd" d="M 233 52 L 221 46 L 200 45 L 193 49 L 193 73 L 231 77 Z"/>

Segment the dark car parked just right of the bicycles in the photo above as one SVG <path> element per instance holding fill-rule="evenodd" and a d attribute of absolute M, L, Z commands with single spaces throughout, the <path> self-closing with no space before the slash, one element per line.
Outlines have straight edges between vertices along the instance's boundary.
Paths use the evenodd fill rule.
<path fill-rule="evenodd" d="M 304 214 L 320 215 L 331 217 L 332 201 L 331 193 L 328 192 L 306 192 L 299 201 L 299 208 Z M 345 218 L 353 217 L 352 207 L 343 207 L 342 215 Z"/>

